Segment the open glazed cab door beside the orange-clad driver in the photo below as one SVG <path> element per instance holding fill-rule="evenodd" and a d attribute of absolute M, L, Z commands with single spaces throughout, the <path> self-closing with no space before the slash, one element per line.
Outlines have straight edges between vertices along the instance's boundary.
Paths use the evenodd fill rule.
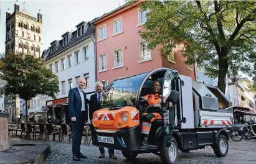
<path fill-rule="evenodd" d="M 173 128 L 177 125 L 177 107 L 179 92 L 175 91 L 178 73 L 169 69 L 164 75 L 163 83 L 163 129 L 164 129 L 164 148 L 171 146 L 171 136 Z"/>

